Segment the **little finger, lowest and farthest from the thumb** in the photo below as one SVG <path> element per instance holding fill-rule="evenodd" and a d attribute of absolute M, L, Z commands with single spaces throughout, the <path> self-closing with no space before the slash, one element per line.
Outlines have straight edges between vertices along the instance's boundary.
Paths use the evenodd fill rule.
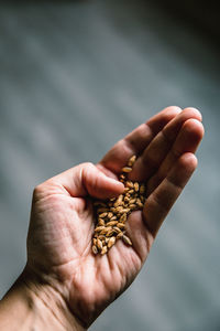
<path fill-rule="evenodd" d="M 158 188 L 147 197 L 143 218 L 154 237 L 196 167 L 197 159 L 194 153 L 183 154 Z"/>

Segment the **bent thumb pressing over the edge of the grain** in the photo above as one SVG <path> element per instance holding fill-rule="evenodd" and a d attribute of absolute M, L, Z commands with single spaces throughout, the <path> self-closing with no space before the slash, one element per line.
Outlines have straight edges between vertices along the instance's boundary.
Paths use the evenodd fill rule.
<path fill-rule="evenodd" d="M 124 185 L 107 177 L 95 164 L 87 162 L 76 166 L 52 179 L 72 196 L 86 196 L 90 194 L 98 199 L 108 199 L 123 192 Z"/>

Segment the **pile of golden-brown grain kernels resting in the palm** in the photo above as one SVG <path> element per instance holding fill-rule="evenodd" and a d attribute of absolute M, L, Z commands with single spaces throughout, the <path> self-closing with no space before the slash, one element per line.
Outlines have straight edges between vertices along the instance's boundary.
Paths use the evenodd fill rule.
<path fill-rule="evenodd" d="M 135 156 L 131 157 L 127 167 L 122 168 L 120 181 L 125 186 L 123 194 L 107 201 L 94 202 L 97 218 L 92 237 L 94 254 L 106 254 L 118 239 L 132 245 L 131 239 L 125 235 L 125 223 L 133 211 L 143 209 L 145 202 L 145 184 L 128 180 L 135 160 Z"/>

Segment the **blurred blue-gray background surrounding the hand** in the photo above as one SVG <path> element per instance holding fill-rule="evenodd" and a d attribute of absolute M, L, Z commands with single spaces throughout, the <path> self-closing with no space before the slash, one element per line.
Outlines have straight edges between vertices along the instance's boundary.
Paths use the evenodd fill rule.
<path fill-rule="evenodd" d="M 194 106 L 198 170 L 138 279 L 90 330 L 220 330 L 218 24 L 211 1 L 172 2 L 0 3 L 1 296 L 25 264 L 37 183 L 97 162 L 168 105 Z"/>

